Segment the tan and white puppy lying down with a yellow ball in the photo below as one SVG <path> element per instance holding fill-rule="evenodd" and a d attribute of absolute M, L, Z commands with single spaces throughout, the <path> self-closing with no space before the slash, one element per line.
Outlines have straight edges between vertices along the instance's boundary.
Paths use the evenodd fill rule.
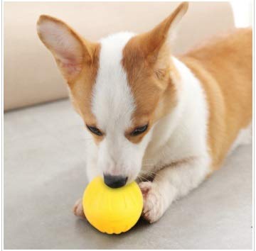
<path fill-rule="evenodd" d="M 174 57 L 171 38 L 187 9 L 181 3 L 149 32 L 99 42 L 51 16 L 37 23 L 91 139 L 88 179 L 100 175 L 112 188 L 136 180 L 149 223 L 252 139 L 252 29 Z M 81 200 L 73 211 L 84 216 Z"/>

